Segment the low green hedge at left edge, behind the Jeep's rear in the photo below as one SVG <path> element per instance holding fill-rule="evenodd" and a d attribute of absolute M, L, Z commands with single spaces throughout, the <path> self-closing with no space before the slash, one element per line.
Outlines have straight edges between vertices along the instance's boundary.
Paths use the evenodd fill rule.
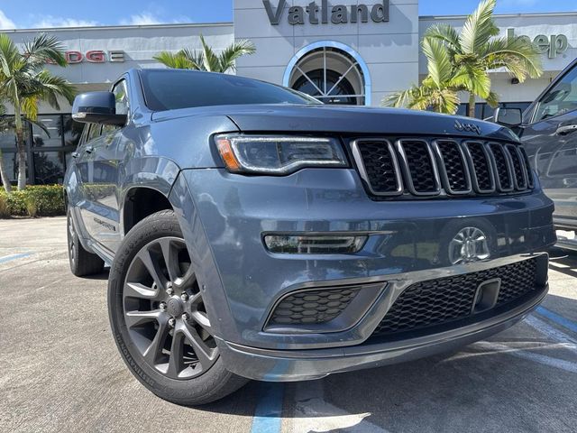
<path fill-rule="evenodd" d="M 2 194 L 14 217 L 56 217 L 65 215 L 64 189 L 60 185 L 35 185 Z"/>

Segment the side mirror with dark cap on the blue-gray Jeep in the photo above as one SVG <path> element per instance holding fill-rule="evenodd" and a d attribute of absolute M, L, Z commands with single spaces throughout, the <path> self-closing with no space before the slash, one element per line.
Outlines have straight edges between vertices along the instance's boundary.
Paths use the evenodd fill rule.
<path fill-rule="evenodd" d="M 87 92 L 74 98 L 72 118 L 85 124 L 124 126 L 127 115 L 116 114 L 116 99 L 112 92 Z"/>

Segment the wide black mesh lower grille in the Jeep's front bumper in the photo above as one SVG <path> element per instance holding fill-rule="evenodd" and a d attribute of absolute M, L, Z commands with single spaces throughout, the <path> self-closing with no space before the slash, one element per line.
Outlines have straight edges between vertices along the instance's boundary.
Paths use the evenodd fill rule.
<path fill-rule="evenodd" d="M 389 336 L 469 318 L 476 292 L 484 281 L 500 279 L 494 308 L 517 300 L 540 288 L 537 261 L 529 259 L 486 271 L 417 282 L 398 296 L 372 336 Z"/>

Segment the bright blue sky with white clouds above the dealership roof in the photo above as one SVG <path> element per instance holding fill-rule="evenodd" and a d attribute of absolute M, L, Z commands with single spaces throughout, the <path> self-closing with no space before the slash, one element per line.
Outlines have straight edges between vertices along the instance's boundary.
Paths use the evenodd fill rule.
<path fill-rule="evenodd" d="M 272 3 L 274 5 L 275 0 Z M 336 5 L 338 0 L 330 3 Z M 366 0 L 366 3 L 372 4 L 375 0 Z M 420 0 L 419 14 L 470 14 L 476 5 L 478 0 Z M 496 10 L 498 14 L 574 11 L 577 11 L 576 0 L 498 0 Z M 0 30 L 232 20 L 233 0 L 0 0 Z"/>

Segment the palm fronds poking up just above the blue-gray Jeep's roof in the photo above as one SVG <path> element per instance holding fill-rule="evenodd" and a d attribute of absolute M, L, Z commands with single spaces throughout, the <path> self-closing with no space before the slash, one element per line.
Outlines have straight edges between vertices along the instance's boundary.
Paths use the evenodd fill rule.
<path fill-rule="evenodd" d="M 235 60 L 244 55 L 251 55 L 256 51 L 252 41 L 235 41 L 219 54 L 216 54 L 206 44 L 202 34 L 200 35 L 200 43 L 202 44 L 202 50 L 200 51 L 190 51 L 188 48 L 180 50 L 176 54 L 170 51 L 161 51 L 154 56 L 154 60 L 158 60 L 172 69 L 226 72 L 235 69 Z"/>

